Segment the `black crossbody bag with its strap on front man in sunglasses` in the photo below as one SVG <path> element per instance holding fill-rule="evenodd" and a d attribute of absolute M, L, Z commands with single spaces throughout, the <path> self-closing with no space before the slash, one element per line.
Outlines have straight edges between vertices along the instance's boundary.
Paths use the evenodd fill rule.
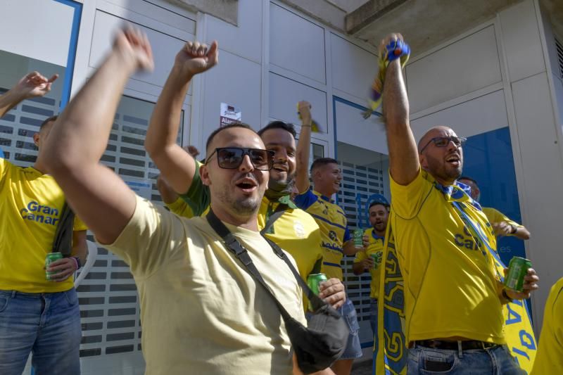
<path fill-rule="evenodd" d="M 275 212 L 268 220 L 265 229 L 267 230 L 267 228 L 271 227 L 274 220 L 282 213 L 283 211 L 281 210 Z M 339 312 L 334 310 L 333 307 L 324 302 L 324 300 L 319 298 L 315 293 L 312 293 L 309 286 L 305 284 L 295 267 L 291 264 L 291 261 L 286 257 L 284 251 L 281 250 L 276 243 L 264 237 L 272 247 L 272 250 L 274 250 L 274 253 L 286 262 L 293 276 L 312 303 L 315 311 L 309 319 L 308 326 L 303 326 L 301 322 L 293 319 L 285 307 L 281 305 L 270 287 L 265 283 L 260 272 L 258 272 L 258 269 L 252 262 L 246 249 L 243 248 L 229 229 L 215 216 L 213 210 L 209 211 L 206 218 L 210 226 L 222 237 L 225 246 L 236 256 L 244 267 L 246 267 L 254 279 L 265 288 L 277 305 L 281 317 L 286 324 L 289 341 L 291 341 L 291 346 L 295 351 L 297 363 L 301 371 L 305 374 L 310 374 L 326 369 L 338 360 L 346 349 L 346 343 L 350 333 L 348 325 L 344 322 Z"/>

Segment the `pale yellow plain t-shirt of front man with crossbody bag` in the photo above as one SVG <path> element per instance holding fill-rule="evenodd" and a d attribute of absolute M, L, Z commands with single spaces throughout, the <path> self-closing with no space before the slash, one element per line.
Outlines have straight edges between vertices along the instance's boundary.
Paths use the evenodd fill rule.
<path fill-rule="evenodd" d="M 286 263 L 258 232 L 227 228 L 305 324 L 301 288 Z M 137 284 L 146 375 L 291 374 L 291 343 L 277 306 L 204 217 L 179 217 L 137 197 L 125 229 L 103 246 L 127 262 Z"/>

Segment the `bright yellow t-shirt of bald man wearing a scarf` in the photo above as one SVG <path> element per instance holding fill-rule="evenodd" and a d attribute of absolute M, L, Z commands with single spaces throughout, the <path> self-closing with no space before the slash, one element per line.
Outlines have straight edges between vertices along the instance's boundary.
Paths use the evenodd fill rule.
<path fill-rule="evenodd" d="M 493 257 L 481 239 L 476 243 L 453 207 L 453 198 L 434 182 L 425 171 L 407 186 L 391 177 L 389 222 L 405 279 L 407 342 L 462 336 L 505 343 Z M 460 199 L 496 250 L 486 216 L 470 203 L 467 193 Z"/>

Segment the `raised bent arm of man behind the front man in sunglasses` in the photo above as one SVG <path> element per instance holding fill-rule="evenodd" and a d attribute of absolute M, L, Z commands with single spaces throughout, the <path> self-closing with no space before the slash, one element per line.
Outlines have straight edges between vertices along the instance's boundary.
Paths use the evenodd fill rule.
<path fill-rule="evenodd" d="M 198 42 L 184 45 L 176 55 L 148 125 L 146 151 L 168 184 L 178 193 L 189 190 L 196 172 L 194 158 L 176 143 L 182 104 L 191 78 L 217 64 L 218 53 L 217 42 L 209 48 Z"/>

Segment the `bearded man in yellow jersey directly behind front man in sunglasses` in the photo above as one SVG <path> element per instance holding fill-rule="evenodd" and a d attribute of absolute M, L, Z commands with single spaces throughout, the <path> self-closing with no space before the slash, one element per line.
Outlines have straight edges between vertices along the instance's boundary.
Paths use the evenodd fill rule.
<path fill-rule="evenodd" d="M 215 50 L 215 44 L 208 49 L 205 44 L 189 42 L 177 53 L 175 64 L 153 111 L 145 141 L 146 150 L 161 175 L 174 191 L 180 193 L 194 215 L 203 215 L 208 210 L 210 191 L 201 179 L 201 163 L 176 144 L 176 137 L 189 82 L 194 75 L 213 67 L 208 62 L 210 53 L 215 53 Z M 308 126 L 310 127 L 310 119 Z M 296 163 L 299 163 L 298 168 L 304 165 L 306 169 L 307 160 L 296 160 L 296 153 L 302 151 L 301 143 L 296 150 L 293 125 L 281 121 L 272 122 L 258 134 L 267 150 L 274 151 L 270 183 L 258 210 L 258 227 L 268 239 L 293 256 L 299 274 L 306 281 L 309 274 L 320 272 L 320 230 L 315 220 L 291 201 L 290 193 Z M 209 157 L 208 154 L 207 159 Z M 269 220 L 277 211 L 283 214 L 272 224 Z M 325 298 L 334 307 L 343 304 L 344 287 L 339 280 L 332 279 L 323 283 L 320 290 L 321 298 Z M 307 307 L 306 299 L 303 305 Z"/>

